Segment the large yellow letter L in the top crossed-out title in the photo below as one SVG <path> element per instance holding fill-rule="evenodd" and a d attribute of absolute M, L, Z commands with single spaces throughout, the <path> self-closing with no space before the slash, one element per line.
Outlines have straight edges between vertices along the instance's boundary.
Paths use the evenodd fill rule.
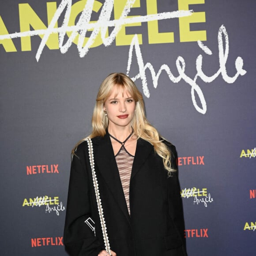
<path fill-rule="evenodd" d="M 147 0 L 147 15 L 157 13 L 157 0 Z M 147 31 L 149 44 L 162 44 L 174 42 L 173 32 L 158 32 L 158 20 L 147 22 Z"/>

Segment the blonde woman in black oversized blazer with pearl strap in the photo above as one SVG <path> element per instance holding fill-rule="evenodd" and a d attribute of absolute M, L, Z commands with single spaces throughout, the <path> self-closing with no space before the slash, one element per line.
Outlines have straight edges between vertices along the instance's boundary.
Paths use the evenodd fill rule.
<path fill-rule="evenodd" d="M 186 255 L 176 150 L 147 121 L 128 76 L 103 81 L 89 137 L 111 255 Z M 107 256 L 84 140 L 72 151 L 64 244 L 72 256 Z"/>

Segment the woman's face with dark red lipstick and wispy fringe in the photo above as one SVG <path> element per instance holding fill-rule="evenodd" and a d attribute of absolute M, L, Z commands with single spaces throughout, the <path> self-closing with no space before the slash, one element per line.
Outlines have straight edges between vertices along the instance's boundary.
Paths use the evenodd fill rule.
<path fill-rule="evenodd" d="M 136 102 L 127 90 L 113 89 L 105 101 L 103 109 L 107 111 L 109 128 L 130 126 L 134 117 Z"/>

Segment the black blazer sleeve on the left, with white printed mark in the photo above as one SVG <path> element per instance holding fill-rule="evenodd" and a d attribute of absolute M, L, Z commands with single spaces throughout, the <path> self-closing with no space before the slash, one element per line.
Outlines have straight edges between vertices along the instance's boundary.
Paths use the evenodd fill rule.
<path fill-rule="evenodd" d="M 85 223 L 91 217 L 89 177 L 85 161 L 85 153 L 81 154 L 81 150 L 78 150 L 71 164 L 64 226 L 64 245 L 71 256 L 98 256 L 104 248 Z"/>

